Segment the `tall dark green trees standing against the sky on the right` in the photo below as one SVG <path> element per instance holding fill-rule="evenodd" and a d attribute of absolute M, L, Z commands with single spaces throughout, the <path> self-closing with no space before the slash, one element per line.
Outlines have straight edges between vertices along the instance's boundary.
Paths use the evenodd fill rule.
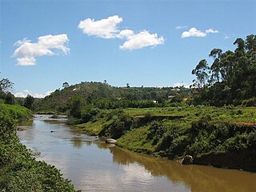
<path fill-rule="evenodd" d="M 192 70 L 196 75 L 192 88 L 199 91 L 194 97 L 195 104 L 239 105 L 246 99 L 253 99 L 246 103 L 255 103 L 256 35 L 248 35 L 246 40 L 237 38 L 234 45 L 234 51 L 211 50 L 211 65 L 202 59 Z"/>

